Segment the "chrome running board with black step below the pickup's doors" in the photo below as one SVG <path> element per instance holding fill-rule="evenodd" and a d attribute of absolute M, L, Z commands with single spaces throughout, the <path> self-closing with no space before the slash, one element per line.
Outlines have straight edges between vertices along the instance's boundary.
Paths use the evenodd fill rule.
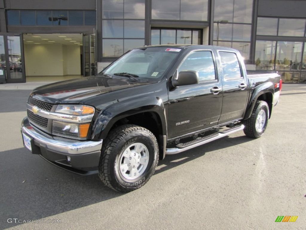
<path fill-rule="evenodd" d="M 196 140 L 192 140 L 192 141 L 189 141 L 189 142 L 184 143 L 184 144 L 180 143 L 176 146 L 177 148 L 167 148 L 166 149 L 166 155 L 177 154 L 177 153 L 180 153 L 180 152 L 198 147 L 202 144 L 206 144 L 208 142 L 220 139 L 224 136 L 228 136 L 228 135 L 230 135 L 234 132 L 238 132 L 238 131 L 243 130 L 243 129 L 244 129 L 244 125 L 236 125 L 232 128 L 228 128 L 226 130 L 216 132 L 216 133 L 211 134 L 209 136 L 200 137 L 200 138 L 197 138 Z"/>

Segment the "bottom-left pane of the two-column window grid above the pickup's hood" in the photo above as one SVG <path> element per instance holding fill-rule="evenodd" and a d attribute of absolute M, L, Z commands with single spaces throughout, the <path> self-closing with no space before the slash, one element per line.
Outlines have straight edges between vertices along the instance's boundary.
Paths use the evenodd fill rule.
<path fill-rule="evenodd" d="M 103 39 L 103 57 L 119 57 L 123 54 L 123 39 Z"/>

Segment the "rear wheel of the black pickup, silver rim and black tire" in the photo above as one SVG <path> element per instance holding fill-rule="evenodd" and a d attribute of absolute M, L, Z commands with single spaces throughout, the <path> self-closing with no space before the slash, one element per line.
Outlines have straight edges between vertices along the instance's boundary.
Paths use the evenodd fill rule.
<path fill-rule="evenodd" d="M 257 101 L 252 115 L 244 122 L 244 134 L 248 137 L 259 138 L 268 125 L 269 107 L 265 101 Z"/>

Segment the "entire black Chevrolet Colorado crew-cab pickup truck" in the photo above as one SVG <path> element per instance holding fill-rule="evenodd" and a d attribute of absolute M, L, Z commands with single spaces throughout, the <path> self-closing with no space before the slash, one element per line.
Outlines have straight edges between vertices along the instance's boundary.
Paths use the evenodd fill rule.
<path fill-rule="evenodd" d="M 145 46 L 98 75 L 34 89 L 21 132 L 33 154 L 129 192 L 166 154 L 240 130 L 262 136 L 281 86 L 277 72 L 247 75 L 235 49 Z"/>

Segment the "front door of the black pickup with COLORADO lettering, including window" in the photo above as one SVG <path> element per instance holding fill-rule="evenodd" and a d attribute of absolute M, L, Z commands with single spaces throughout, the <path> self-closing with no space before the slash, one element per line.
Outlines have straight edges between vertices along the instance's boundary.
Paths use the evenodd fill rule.
<path fill-rule="evenodd" d="M 178 72 L 193 70 L 199 83 L 169 91 L 168 136 L 182 136 L 218 124 L 222 106 L 222 83 L 217 78 L 211 50 L 189 53 Z"/>

